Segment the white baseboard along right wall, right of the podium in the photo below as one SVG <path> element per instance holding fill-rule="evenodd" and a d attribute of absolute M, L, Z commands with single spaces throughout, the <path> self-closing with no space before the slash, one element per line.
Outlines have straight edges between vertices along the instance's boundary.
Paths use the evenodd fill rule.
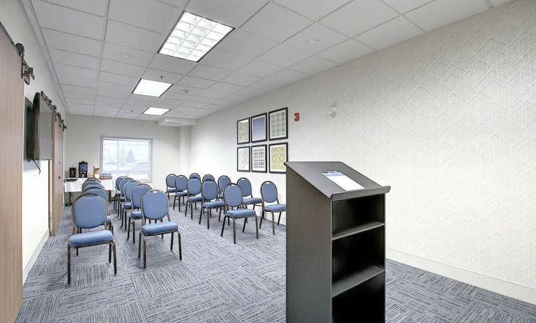
<path fill-rule="evenodd" d="M 386 257 L 407 264 L 408 266 L 417 267 L 425 271 L 430 271 L 430 273 L 442 275 L 460 282 L 465 282 L 465 284 L 473 285 L 497 294 L 512 297 L 512 299 L 518 299 L 519 301 L 536 305 L 536 289 L 532 287 L 508 282 L 507 280 L 494 278 L 489 275 L 476 273 L 475 271 L 444 264 L 440 261 L 426 259 L 391 248 L 386 248 Z"/>

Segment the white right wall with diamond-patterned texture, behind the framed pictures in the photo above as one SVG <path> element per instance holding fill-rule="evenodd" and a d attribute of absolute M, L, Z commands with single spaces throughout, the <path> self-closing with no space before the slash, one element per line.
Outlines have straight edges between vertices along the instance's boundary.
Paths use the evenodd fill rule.
<path fill-rule="evenodd" d="M 274 180 L 284 196 L 284 175 L 236 172 L 236 120 L 288 106 L 289 160 L 392 186 L 391 250 L 536 295 L 535 44 L 536 1 L 507 3 L 204 117 L 189 171 L 247 175 L 257 195 Z"/>

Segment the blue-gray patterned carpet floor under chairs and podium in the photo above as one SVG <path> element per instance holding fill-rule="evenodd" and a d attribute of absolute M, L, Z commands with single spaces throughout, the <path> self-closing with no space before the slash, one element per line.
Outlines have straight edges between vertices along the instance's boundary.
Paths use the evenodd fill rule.
<path fill-rule="evenodd" d="M 183 209 L 184 210 L 184 209 Z M 184 213 L 172 212 L 182 233 L 178 248 L 170 237 L 147 238 L 147 269 L 138 245 L 126 241 L 114 216 L 117 276 L 106 247 L 80 250 L 72 257 L 72 282 L 66 285 L 66 249 L 71 233 L 66 208 L 57 236 L 48 238 L 23 288 L 16 322 L 284 322 L 285 228 L 271 234 L 263 222 L 259 240 L 254 226 L 245 233 L 212 216 L 207 229 Z M 240 229 L 238 229 L 240 228 Z M 477 287 L 388 261 L 387 322 L 536 322 L 536 306 Z M 353 322 L 353 321 L 352 321 Z"/>

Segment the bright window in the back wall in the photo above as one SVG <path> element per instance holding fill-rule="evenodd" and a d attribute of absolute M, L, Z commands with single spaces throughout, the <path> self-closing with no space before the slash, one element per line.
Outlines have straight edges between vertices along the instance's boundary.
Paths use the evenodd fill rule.
<path fill-rule="evenodd" d="M 151 181 L 152 139 L 101 139 L 101 172 Z"/>

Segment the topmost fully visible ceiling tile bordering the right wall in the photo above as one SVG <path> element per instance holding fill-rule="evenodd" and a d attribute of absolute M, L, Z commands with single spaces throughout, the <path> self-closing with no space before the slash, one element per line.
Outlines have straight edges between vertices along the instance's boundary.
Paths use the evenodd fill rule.
<path fill-rule="evenodd" d="M 365 31 L 356 37 L 361 43 L 380 50 L 396 43 L 400 43 L 419 34 L 421 29 L 407 21 L 405 17 L 396 17 L 378 27 Z"/>

